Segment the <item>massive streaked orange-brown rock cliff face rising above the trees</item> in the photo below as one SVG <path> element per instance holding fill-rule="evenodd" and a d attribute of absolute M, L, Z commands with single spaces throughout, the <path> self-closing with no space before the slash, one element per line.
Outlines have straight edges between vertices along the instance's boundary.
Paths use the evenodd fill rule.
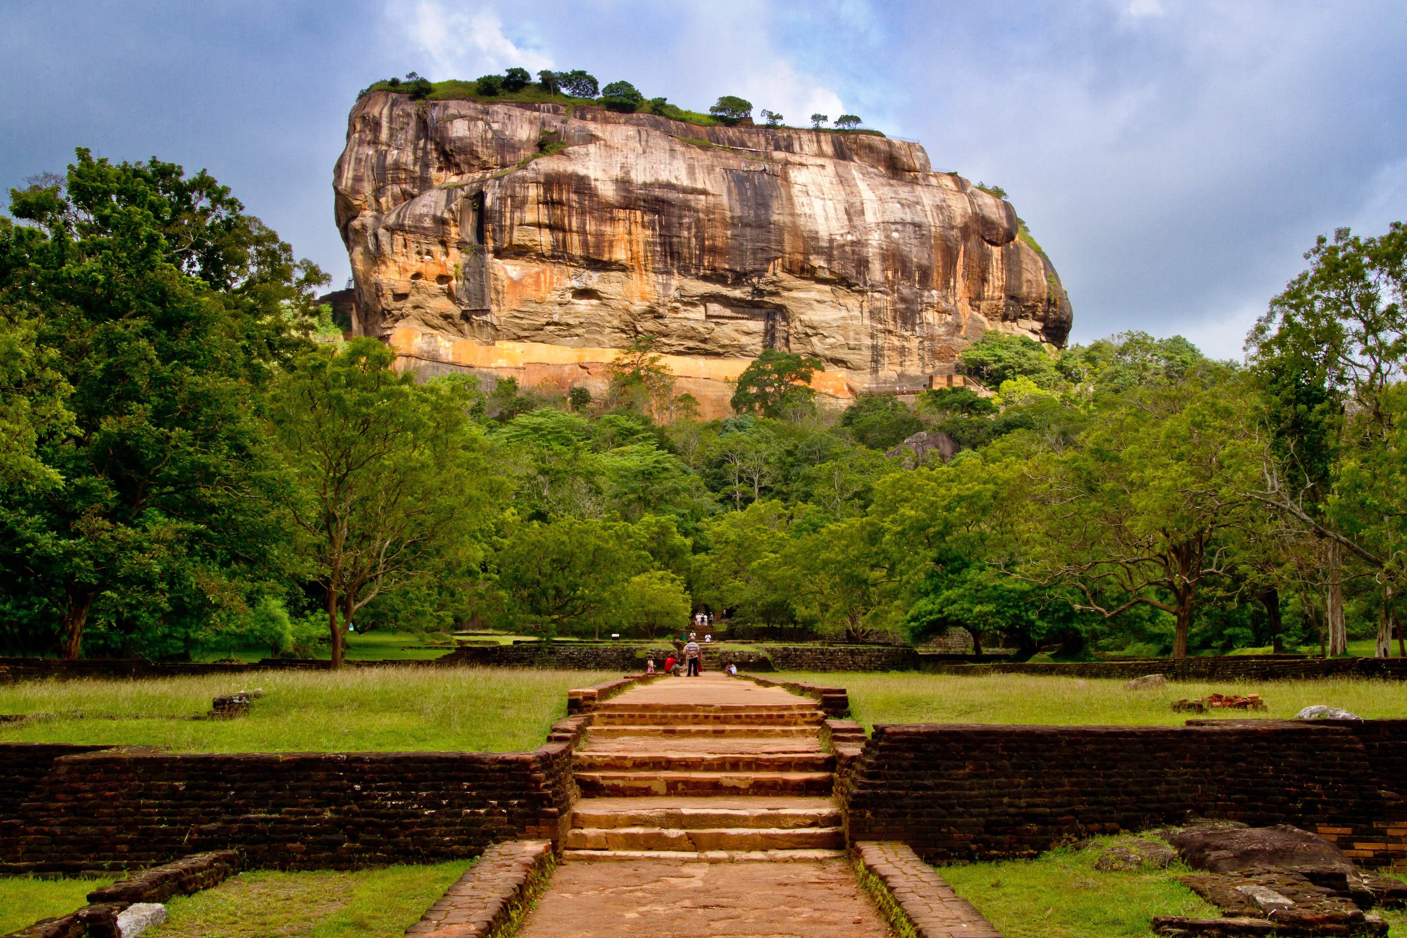
<path fill-rule="evenodd" d="M 333 186 L 357 332 L 429 370 L 601 390 L 654 336 L 716 415 L 767 347 L 848 398 L 946 383 L 986 329 L 1071 326 L 1012 205 L 903 141 L 377 91 Z"/>

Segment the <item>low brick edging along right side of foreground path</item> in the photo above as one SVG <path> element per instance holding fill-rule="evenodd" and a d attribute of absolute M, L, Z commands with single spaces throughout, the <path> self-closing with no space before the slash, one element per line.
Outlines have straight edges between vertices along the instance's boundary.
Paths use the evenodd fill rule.
<path fill-rule="evenodd" d="M 972 903 L 919 859 L 906 844 L 861 841 L 850 848 L 860 882 L 889 924 L 913 938 L 1002 938 Z"/>

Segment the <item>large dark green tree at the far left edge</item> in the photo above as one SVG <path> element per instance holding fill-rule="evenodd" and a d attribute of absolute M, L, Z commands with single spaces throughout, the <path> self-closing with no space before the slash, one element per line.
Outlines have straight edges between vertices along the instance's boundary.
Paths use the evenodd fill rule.
<path fill-rule="evenodd" d="M 0 491 L 3 617 L 69 658 L 93 623 L 190 651 L 287 560 L 252 415 L 325 277 L 205 173 L 79 149 L 63 188 L 11 190 L 0 222 L 6 419 L 34 433 Z"/>

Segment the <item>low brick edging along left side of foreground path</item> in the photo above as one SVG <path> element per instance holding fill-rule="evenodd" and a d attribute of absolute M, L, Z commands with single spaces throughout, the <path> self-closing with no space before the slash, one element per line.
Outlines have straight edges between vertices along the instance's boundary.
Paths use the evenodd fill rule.
<path fill-rule="evenodd" d="M 497 938 L 522 918 L 553 869 L 552 841 L 508 841 L 484 851 L 418 923 L 415 938 Z"/>

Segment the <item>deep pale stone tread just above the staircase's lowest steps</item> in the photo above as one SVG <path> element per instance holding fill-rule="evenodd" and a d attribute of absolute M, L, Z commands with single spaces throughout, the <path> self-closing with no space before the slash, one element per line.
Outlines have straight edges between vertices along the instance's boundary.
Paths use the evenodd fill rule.
<path fill-rule="evenodd" d="M 663 799 L 661 799 L 663 800 Z M 713 803 L 726 807 L 711 807 Z M 796 803 L 798 807 L 787 807 Z M 746 804 L 747 807 L 736 807 Z M 765 804 L 754 807 L 754 804 Z M 777 807 L 777 806 L 781 807 Z M 654 799 L 587 799 L 577 802 L 571 811 L 573 827 L 608 830 L 615 827 L 667 827 L 671 830 L 763 828 L 798 830 L 839 827 L 840 809 L 820 799 L 674 799 L 660 804 Z"/>

